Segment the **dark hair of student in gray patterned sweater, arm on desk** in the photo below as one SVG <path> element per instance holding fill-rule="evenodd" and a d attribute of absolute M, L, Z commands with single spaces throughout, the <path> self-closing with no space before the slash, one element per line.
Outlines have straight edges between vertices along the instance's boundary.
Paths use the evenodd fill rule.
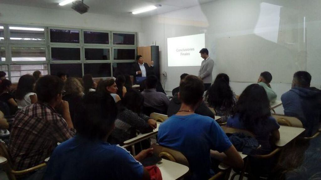
<path fill-rule="evenodd" d="M 143 95 L 136 90 L 129 90 L 122 99 L 122 107 L 120 111 L 124 110 L 125 107 L 133 112 L 140 113 L 141 107 L 144 103 Z"/>

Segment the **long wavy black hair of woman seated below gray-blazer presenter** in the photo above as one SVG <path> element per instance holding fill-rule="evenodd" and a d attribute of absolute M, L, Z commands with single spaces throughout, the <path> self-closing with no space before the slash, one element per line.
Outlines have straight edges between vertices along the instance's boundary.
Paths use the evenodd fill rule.
<path fill-rule="evenodd" d="M 230 78 L 228 75 L 218 74 L 213 85 L 206 92 L 205 97 L 210 107 L 221 108 L 222 106 L 229 109 L 234 104 L 234 93 L 229 85 Z"/>

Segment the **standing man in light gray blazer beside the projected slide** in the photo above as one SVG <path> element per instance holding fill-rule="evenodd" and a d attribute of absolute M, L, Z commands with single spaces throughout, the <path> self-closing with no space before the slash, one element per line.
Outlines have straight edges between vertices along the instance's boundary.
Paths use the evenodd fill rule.
<path fill-rule="evenodd" d="M 201 68 L 198 71 L 198 77 L 203 80 L 206 91 L 211 87 L 214 61 L 210 56 L 208 56 L 208 50 L 206 48 L 201 49 L 200 53 L 204 60 L 202 61 Z"/>

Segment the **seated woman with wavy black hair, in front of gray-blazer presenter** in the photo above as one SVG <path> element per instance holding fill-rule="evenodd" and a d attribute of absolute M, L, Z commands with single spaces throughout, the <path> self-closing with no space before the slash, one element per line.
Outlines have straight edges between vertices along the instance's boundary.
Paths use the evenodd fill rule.
<path fill-rule="evenodd" d="M 214 108 L 217 116 L 221 116 L 220 123 L 227 121 L 236 105 L 236 97 L 231 90 L 229 82 L 230 78 L 227 74 L 218 74 L 205 94 L 205 103 Z"/>

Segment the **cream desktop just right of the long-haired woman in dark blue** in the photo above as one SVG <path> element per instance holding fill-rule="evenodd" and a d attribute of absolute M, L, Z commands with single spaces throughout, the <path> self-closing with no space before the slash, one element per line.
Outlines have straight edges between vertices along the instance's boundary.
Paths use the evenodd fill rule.
<path fill-rule="evenodd" d="M 280 126 L 280 139 L 275 143 L 276 146 L 282 147 L 295 139 L 305 131 L 302 127 Z"/>

